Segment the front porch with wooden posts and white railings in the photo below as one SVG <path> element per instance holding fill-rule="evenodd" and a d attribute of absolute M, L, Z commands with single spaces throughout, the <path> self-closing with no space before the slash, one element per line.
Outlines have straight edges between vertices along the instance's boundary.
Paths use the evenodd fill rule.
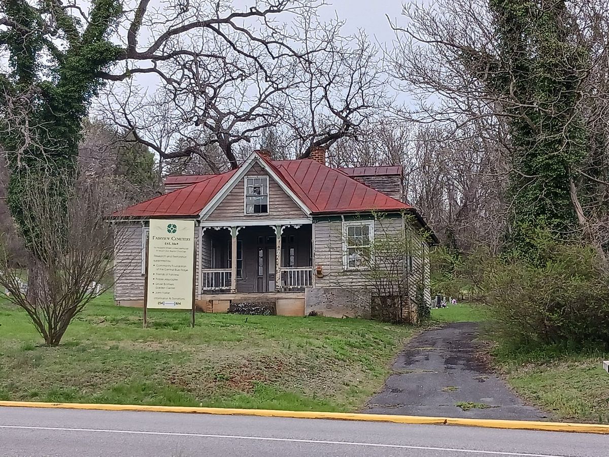
<path fill-rule="evenodd" d="M 199 264 L 203 300 L 304 298 L 313 282 L 312 225 L 203 227 Z"/>

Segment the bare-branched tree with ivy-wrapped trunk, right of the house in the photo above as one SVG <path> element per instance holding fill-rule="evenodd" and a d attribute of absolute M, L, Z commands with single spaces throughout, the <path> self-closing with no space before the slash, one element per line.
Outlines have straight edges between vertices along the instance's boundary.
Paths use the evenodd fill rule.
<path fill-rule="evenodd" d="M 464 160 L 471 134 L 481 140 L 474 150 L 486 156 L 474 158 L 482 166 L 476 179 L 471 185 L 451 179 L 452 214 L 467 214 L 472 201 L 498 194 L 502 204 L 484 209 L 496 216 L 487 232 L 499 223 L 507 238 L 521 239 L 526 227 L 546 221 L 557 236 L 579 230 L 603 246 L 607 238 L 597 228 L 607 205 L 597 198 L 606 201 L 607 191 L 600 165 L 607 157 L 600 95 L 607 81 L 607 2 L 532 1 L 518 11 L 506 5 L 404 5 L 407 26 L 392 23 L 396 40 L 387 53 L 387 70 L 415 101 L 400 114 L 452 126 L 463 147 L 448 151 L 462 151 Z M 467 202 L 461 210 L 459 201 Z"/>

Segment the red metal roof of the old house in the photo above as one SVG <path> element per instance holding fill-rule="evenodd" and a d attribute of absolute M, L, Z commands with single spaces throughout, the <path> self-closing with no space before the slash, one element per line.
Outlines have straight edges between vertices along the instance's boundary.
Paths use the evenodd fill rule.
<path fill-rule="evenodd" d="M 399 211 L 411 209 L 373 188 L 357 182 L 343 169 L 329 168 L 318 161 L 277 160 L 258 156 L 270 170 L 309 208 L 312 214 L 357 213 L 361 211 Z M 401 167 L 373 167 L 400 168 Z M 189 175 L 172 178 L 172 183 L 194 184 L 161 195 L 115 213 L 115 216 L 196 216 L 222 189 L 236 170 L 219 175 Z M 362 174 L 363 175 L 363 174 Z"/>

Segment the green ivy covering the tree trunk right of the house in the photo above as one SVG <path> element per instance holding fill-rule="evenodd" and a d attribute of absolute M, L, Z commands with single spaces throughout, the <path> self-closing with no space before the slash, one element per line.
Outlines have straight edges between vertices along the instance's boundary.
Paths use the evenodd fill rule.
<path fill-rule="evenodd" d="M 490 0 L 498 53 L 464 52 L 463 58 L 499 94 L 511 130 L 512 221 L 507 245 L 535 260 L 530 231 L 543 227 L 558 238 L 577 228 L 571 192 L 586 155 L 586 128 L 577 112 L 589 67 L 574 19 L 564 1 Z"/>

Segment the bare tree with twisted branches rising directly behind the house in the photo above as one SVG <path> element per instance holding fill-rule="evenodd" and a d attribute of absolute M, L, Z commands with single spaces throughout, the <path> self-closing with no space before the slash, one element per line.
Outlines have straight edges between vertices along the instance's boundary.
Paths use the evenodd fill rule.
<path fill-rule="evenodd" d="M 163 160 L 199 155 L 210 167 L 206 146 L 219 147 L 236 168 L 270 130 L 284 158 L 357 138 L 386 102 L 378 49 L 363 34 L 343 37 L 338 19 L 322 23 L 314 8 L 300 13 L 290 29 L 272 28 L 274 54 L 234 30 L 189 43 L 192 54 L 158 63 L 163 85 L 153 96 L 125 80 L 108 94 L 105 115 Z"/>

